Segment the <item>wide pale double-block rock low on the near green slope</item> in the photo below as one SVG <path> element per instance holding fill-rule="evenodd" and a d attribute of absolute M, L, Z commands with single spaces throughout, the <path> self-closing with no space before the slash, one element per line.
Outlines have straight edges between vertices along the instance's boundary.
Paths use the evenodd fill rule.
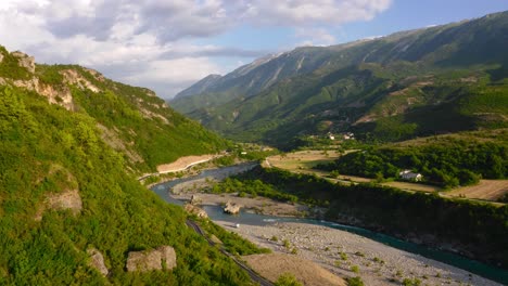
<path fill-rule="evenodd" d="M 170 270 L 176 266 L 176 252 L 170 246 L 161 246 L 145 251 L 131 251 L 127 258 L 126 266 L 128 272 Z"/>

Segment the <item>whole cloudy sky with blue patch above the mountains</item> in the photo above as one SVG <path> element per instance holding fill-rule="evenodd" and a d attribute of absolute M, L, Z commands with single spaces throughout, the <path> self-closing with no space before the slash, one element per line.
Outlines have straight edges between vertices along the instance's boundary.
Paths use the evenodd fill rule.
<path fill-rule="evenodd" d="M 0 44 L 169 99 L 266 54 L 506 10 L 508 0 L 1 0 Z"/>

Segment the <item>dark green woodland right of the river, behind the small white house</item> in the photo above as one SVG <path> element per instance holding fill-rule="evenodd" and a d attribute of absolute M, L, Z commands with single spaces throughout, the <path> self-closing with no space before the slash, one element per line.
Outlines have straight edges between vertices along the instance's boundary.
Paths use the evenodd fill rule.
<path fill-rule="evenodd" d="M 409 169 L 445 187 L 474 184 L 481 178 L 506 179 L 508 140 L 506 132 L 497 135 L 495 141 L 429 138 L 419 144 L 371 147 L 318 168 L 377 179 L 397 179 L 402 170 Z"/>

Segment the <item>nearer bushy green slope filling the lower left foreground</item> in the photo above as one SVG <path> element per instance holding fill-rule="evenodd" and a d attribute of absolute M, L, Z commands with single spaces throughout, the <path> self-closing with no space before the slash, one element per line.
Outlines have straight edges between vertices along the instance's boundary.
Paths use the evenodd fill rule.
<path fill-rule="evenodd" d="M 249 276 L 125 171 L 97 120 L 35 92 L 0 88 L 0 284 L 242 285 Z M 74 190 L 82 209 L 49 198 Z M 125 270 L 129 251 L 175 248 L 177 268 Z M 96 248 L 110 270 L 90 266 Z"/>

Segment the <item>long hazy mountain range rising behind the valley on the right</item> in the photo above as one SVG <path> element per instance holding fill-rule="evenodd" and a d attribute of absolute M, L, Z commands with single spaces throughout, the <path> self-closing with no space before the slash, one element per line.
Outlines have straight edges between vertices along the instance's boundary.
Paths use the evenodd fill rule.
<path fill-rule="evenodd" d="M 507 35 L 501 12 L 297 48 L 169 104 L 231 139 L 279 146 L 327 132 L 393 141 L 506 127 Z"/>

